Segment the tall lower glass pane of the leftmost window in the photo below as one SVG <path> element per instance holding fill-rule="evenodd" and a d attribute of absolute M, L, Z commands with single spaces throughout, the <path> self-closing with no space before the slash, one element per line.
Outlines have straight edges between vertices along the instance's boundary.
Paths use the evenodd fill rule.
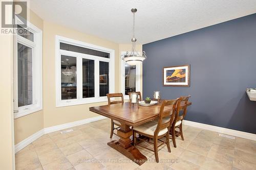
<path fill-rule="evenodd" d="M 32 48 L 18 43 L 18 107 L 32 102 Z"/>

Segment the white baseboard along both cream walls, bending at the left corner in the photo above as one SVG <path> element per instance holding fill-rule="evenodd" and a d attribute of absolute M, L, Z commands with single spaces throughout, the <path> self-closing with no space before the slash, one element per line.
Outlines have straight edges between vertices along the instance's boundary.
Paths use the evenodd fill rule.
<path fill-rule="evenodd" d="M 86 119 L 78 120 L 78 121 L 67 123 L 67 124 L 61 124 L 61 125 L 41 129 L 38 132 L 34 133 L 33 135 L 29 136 L 28 138 L 26 138 L 26 139 L 20 141 L 19 143 L 15 144 L 15 147 L 14 147 L 15 148 L 14 149 L 15 153 L 17 153 L 18 151 L 27 147 L 27 145 L 29 145 L 30 143 L 32 143 L 33 141 L 35 141 L 36 139 L 38 139 L 39 137 L 41 137 L 44 134 L 59 131 L 59 130 L 62 130 L 62 129 L 72 128 L 72 127 L 83 125 L 83 124 L 88 124 L 88 123 L 91 123 L 91 122 L 96 122 L 98 120 L 102 120 L 102 119 L 105 119 L 105 118 L 107 118 L 107 117 L 104 117 L 104 116 L 91 117 L 91 118 L 86 118 Z"/>

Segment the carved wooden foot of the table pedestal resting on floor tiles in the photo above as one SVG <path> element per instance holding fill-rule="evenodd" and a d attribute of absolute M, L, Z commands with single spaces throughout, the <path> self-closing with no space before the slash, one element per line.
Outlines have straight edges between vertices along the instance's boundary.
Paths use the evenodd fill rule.
<path fill-rule="evenodd" d="M 140 151 L 137 148 L 135 148 L 133 145 L 125 149 L 120 146 L 120 143 L 117 140 L 108 142 L 108 145 L 111 148 L 122 153 L 127 158 L 130 158 L 132 161 L 134 161 L 138 165 L 142 165 L 147 160 L 147 158 L 142 153 L 140 153 Z"/>

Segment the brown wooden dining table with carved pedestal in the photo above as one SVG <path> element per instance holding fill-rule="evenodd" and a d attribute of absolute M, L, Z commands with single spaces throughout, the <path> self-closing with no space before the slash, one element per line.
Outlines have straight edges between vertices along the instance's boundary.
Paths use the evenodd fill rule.
<path fill-rule="evenodd" d="M 182 105 L 184 105 L 184 103 L 181 103 L 181 106 Z M 189 105 L 191 105 L 191 102 L 187 103 L 187 106 Z M 117 135 L 120 137 L 119 140 L 108 142 L 108 145 L 130 158 L 135 163 L 141 165 L 147 158 L 132 145 L 133 141 L 130 137 L 133 135 L 133 130 L 131 127 L 158 118 L 160 107 L 161 102 L 147 107 L 139 106 L 139 108 L 137 106 L 130 107 L 130 102 L 125 102 L 124 104 L 90 107 L 90 111 L 120 122 L 121 127 L 120 129 L 117 129 Z M 172 110 L 172 107 L 169 106 L 164 108 L 164 110 L 168 109 Z"/>

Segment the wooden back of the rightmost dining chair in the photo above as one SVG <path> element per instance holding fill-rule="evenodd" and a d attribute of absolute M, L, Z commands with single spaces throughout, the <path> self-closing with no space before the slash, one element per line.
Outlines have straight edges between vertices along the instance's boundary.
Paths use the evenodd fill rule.
<path fill-rule="evenodd" d="M 175 118 L 174 118 L 174 123 L 173 125 L 176 124 L 176 122 L 178 122 L 179 120 L 183 120 L 184 117 L 186 116 L 187 113 L 187 103 L 188 103 L 188 99 L 191 97 L 191 95 L 188 96 L 181 96 L 179 98 L 179 101 L 177 102 L 177 110 L 175 113 Z M 181 106 L 182 103 L 182 106 Z M 184 105 L 183 105 L 184 103 Z"/>

